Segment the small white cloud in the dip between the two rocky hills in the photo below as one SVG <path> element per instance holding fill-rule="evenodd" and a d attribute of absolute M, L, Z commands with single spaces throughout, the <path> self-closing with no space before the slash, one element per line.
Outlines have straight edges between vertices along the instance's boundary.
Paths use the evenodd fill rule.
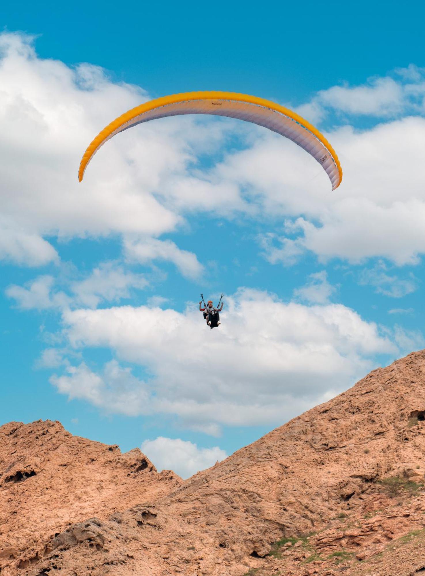
<path fill-rule="evenodd" d="M 189 478 L 227 458 L 226 452 L 218 446 L 198 448 L 193 442 L 162 436 L 145 440 L 141 450 L 158 470 L 173 470 L 182 478 Z"/>

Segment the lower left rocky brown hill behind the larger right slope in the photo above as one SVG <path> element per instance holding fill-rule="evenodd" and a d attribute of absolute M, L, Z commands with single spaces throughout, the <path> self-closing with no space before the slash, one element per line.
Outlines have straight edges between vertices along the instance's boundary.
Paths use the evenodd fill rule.
<path fill-rule="evenodd" d="M 73 522 L 109 516 L 181 482 L 158 473 L 139 449 L 122 454 L 118 446 L 71 435 L 59 422 L 0 427 L 1 575 L 38 563 L 45 541 Z"/>

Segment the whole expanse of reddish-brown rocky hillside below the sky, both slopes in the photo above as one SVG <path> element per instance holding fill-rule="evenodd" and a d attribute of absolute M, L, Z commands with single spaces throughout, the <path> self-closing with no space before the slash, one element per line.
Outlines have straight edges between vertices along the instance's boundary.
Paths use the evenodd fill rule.
<path fill-rule="evenodd" d="M 425 574 L 424 425 L 420 351 L 183 483 L 58 423 L 3 426 L 1 574 Z M 88 457 L 62 461 L 73 442 Z"/>

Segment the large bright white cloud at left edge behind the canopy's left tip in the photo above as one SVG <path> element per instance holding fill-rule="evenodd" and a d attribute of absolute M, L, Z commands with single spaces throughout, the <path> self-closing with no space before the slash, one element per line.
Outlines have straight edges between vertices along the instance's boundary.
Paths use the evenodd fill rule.
<path fill-rule="evenodd" d="M 175 230 L 182 215 L 157 196 L 165 197 L 172 183 L 183 190 L 197 154 L 213 152 L 230 125 L 204 130 L 187 117 L 129 131 L 119 143 L 108 142 L 78 184 L 78 159 L 94 135 L 149 96 L 115 84 L 97 66 L 41 59 L 33 41 L 0 34 L 0 257 L 42 266 L 58 260 L 46 236 L 157 237 Z M 178 266 L 193 272 L 189 255 L 177 249 L 174 255 Z"/>

